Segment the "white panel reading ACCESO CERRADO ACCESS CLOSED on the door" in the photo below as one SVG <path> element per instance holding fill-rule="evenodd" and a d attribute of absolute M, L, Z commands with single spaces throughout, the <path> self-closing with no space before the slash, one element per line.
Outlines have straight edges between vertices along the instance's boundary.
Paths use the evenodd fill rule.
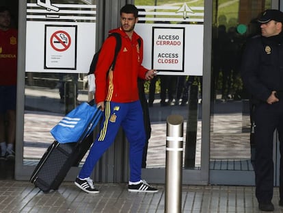
<path fill-rule="evenodd" d="M 138 23 L 137 25 L 135 25 L 135 31 L 137 32 L 137 34 L 139 34 L 139 36 L 142 36 L 144 40 L 143 65 L 146 68 L 161 68 L 158 75 L 202 76 L 204 25 L 183 24 L 181 26 L 182 27 L 180 27 L 180 24 L 167 24 L 167 23 L 165 24 Z M 161 27 L 161 28 L 157 28 L 157 27 Z M 179 37 L 178 41 L 183 42 L 183 44 L 172 45 L 172 46 L 170 45 L 170 47 L 161 47 L 161 45 L 157 45 L 154 36 L 163 33 L 162 28 L 164 29 L 165 33 L 182 36 L 183 38 Z M 155 35 L 153 35 L 153 32 L 155 31 L 156 33 L 154 33 Z M 183 31 L 184 31 L 184 36 L 183 36 Z M 171 61 L 176 63 L 169 63 L 169 60 L 167 60 L 167 63 L 161 63 L 164 65 L 161 66 L 161 64 L 157 63 L 159 51 L 160 52 L 167 51 L 167 53 L 169 52 L 178 53 L 178 61 Z M 176 57 L 176 55 L 174 56 Z M 173 57 L 173 55 L 171 55 L 171 57 Z M 157 61 L 153 61 L 153 60 L 157 60 Z M 165 62 L 165 60 L 163 60 L 163 62 Z M 183 70 L 180 70 L 182 66 L 183 66 Z"/>

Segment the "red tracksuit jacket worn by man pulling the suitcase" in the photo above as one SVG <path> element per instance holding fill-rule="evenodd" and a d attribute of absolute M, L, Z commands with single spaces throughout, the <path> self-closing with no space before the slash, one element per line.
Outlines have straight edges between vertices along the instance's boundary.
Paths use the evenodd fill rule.
<path fill-rule="evenodd" d="M 148 69 L 142 66 L 143 41 L 137 42 L 140 36 L 133 33 L 132 39 L 121 29 L 112 29 L 109 33 L 117 32 L 121 35 L 122 46 L 116 59 L 115 70 L 109 70 L 113 62 L 116 38 L 110 36 L 103 43 L 96 64 L 95 84 L 96 103 L 114 101 L 128 103 L 139 99 L 137 78 L 145 79 Z"/>

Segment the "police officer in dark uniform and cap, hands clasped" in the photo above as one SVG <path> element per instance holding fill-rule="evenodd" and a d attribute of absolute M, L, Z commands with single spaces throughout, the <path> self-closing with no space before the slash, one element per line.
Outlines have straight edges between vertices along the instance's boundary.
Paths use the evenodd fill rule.
<path fill-rule="evenodd" d="M 243 51 L 241 76 L 252 96 L 256 143 L 256 199 L 262 211 L 274 210 L 273 132 L 280 140 L 280 201 L 283 206 L 283 13 L 266 10 L 258 18 L 261 35 L 251 38 Z"/>

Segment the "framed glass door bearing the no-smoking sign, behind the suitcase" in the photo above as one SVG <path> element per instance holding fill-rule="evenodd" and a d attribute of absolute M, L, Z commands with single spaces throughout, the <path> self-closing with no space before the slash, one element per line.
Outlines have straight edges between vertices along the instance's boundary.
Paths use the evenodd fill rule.
<path fill-rule="evenodd" d="M 89 100 L 96 0 L 19 3 L 16 179 L 27 179 L 54 141 L 50 130 Z"/>

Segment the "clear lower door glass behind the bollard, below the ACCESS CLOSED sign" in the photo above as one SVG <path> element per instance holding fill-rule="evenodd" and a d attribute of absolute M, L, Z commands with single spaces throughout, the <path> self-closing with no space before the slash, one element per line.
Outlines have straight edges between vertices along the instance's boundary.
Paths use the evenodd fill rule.
<path fill-rule="evenodd" d="M 154 91 L 150 91 L 152 82 L 146 84 L 152 128 L 148 143 L 147 168 L 165 166 L 166 119 L 171 114 L 179 114 L 184 118 L 183 164 L 185 168 L 198 168 L 201 153 L 202 77 L 163 75 L 155 79 L 152 81 L 155 84 Z M 162 84 L 162 80 L 168 82 Z M 153 100 L 150 99 L 153 97 L 150 92 L 154 95 Z"/>

